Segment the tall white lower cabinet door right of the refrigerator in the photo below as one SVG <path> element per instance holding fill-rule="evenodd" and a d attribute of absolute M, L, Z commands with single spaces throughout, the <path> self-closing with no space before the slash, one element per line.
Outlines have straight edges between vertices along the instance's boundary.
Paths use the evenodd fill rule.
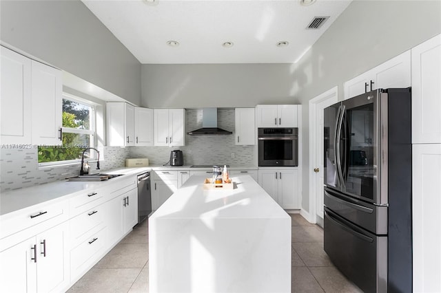
<path fill-rule="evenodd" d="M 413 144 L 413 292 L 441 292 L 440 182 L 441 144 Z"/>

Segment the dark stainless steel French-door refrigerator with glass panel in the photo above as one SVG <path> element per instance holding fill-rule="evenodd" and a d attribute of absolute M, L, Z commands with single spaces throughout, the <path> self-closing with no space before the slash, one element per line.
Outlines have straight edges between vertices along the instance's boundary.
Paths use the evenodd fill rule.
<path fill-rule="evenodd" d="M 324 247 L 364 292 L 412 292 L 411 88 L 325 109 Z"/>

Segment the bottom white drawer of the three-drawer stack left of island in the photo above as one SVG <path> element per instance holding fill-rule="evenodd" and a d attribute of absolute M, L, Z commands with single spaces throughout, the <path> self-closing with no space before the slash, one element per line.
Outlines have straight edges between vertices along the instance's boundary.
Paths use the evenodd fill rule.
<path fill-rule="evenodd" d="M 76 281 L 99 259 L 105 248 L 107 228 L 98 226 L 90 237 L 70 250 L 70 281 Z"/>

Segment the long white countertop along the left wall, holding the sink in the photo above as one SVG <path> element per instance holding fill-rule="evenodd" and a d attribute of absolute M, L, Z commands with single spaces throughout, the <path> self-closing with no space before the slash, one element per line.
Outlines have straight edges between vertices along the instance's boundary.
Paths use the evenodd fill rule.
<path fill-rule="evenodd" d="M 121 168 L 111 171 L 105 171 L 105 174 L 124 174 L 124 175 L 138 175 L 145 171 L 150 171 L 151 168 Z M 66 196 L 75 196 L 79 193 L 85 193 L 94 188 L 101 188 L 108 182 L 116 182 L 123 180 L 126 176 L 114 177 L 111 180 L 100 182 L 68 182 L 57 181 L 47 184 L 41 184 L 34 187 L 16 189 L 14 191 L 7 191 L 0 195 L 0 215 L 6 215 L 16 210 L 35 206 L 45 202 L 57 202 L 64 199 Z"/>

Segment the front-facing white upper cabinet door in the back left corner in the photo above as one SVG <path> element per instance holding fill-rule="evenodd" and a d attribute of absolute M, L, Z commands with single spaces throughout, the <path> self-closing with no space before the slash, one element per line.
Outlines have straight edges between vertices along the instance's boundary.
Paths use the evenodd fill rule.
<path fill-rule="evenodd" d="M 135 107 L 135 146 L 152 146 L 153 139 L 153 109 Z"/>

